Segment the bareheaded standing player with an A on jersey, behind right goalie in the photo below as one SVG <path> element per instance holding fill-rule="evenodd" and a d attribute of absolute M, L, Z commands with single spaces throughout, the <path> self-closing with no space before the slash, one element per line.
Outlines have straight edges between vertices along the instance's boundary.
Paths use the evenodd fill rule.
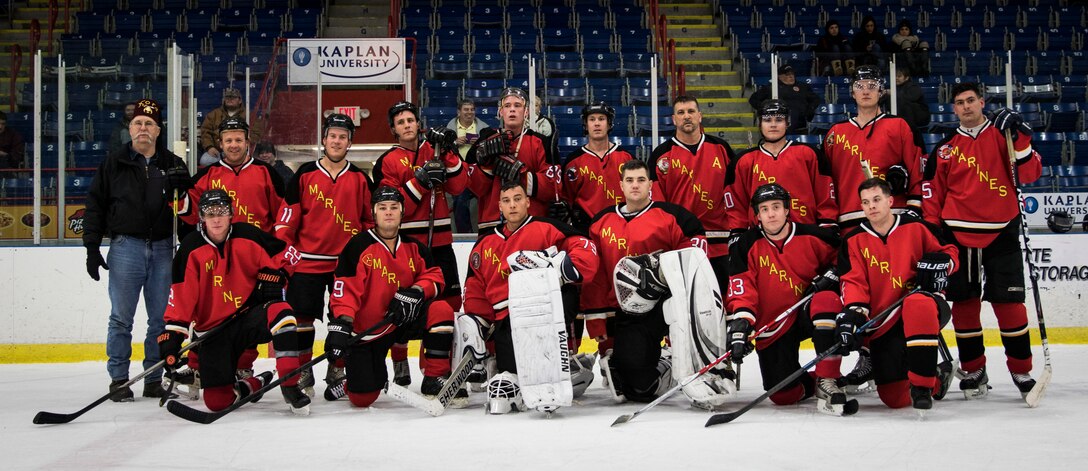
<path fill-rule="evenodd" d="M 676 136 L 654 149 L 651 175 L 653 198 L 691 210 L 706 230 L 706 255 L 726 290 L 729 271 L 729 231 L 726 225 L 726 170 L 735 159 L 722 139 L 703 134 L 703 113 L 694 97 L 672 102 Z"/>

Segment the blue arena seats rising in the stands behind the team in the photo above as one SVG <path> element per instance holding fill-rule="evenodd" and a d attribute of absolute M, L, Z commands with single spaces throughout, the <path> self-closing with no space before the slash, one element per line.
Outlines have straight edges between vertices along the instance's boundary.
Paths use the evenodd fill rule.
<path fill-rule="evenodd" d="M 119 0 L 95 1 L 75 14 L 76 27 L 61 38 L 67 71 L 69 100 L 64 152 L 46 146 L 44 166 L 59 156 L 71 173 L 67 196 L 82 188 L 104 157 L 110 131 L 122 103 L 150 94 L 165 96 L 164 46 L 176 41 L 196 54 L 197 99 L 202 114 L 220 103 L 221 89 L 242 78 L 245 65 L 255 77 L 268 70 L 276 38 L 314 37 L 320 9 L 297 8 L 292 0 Z M 651 102 L 650 60 L 654 55 L 646 7 L 638 0 L 406 0 L 399 12 L 398 36 L 416 40 L 415 63 L 420 79 L 425 125 L 444 125 L 456 114 L 456 101 L 478 102 L 478 114 L 493 120 L 499 90 L 527 87 L 528 58 L 537 65 L 537 94 L 545 101 L 560 136 L 560 157 L 582 144 L 580 112 L 590 101 L 617 109 L 613 135 L 640 157 L 647 157 Z M 722 2 L 727 3 L 727 2 Z M 737 2 L 728 2 L 734 5 Z M 861 20 L 871 15 L 890 38 L 902 20 L 928 41 L 929 74 L 916 77 L 930 102 L 932 122 L 927 148 L 956 125 L 948 104 L 953 84 L 977 80 L 993 94 L 989 107 L 1004 102 L 1005 51 L 1015 66 L 1016 108 L 1037 134 L 1046 176 L 1033 190 L 1088 190 L 1086 88 L 1088 60 L 1083 50 L 1088 11 L 1050 2 L 1004 0 L 775 0 L 746 7 L 721 7 L 718 14 L 729 32 L 734 69 L 747 85 L 745 94 L 769 82 L 770 54 L 798 71 L 826 104 L 796 136 L 818 141 L 819 133 L 852 111 L 845 77 L 816 75 L 811 47 L 824 22 L 837 20 L 850 37 Z M 880 3 L 881 5 L 873 5 Z M 1064 2 L 1062 2 L 1064 3 Z M 754 7 L 752 5 L 754 4 Z M 123 8 L 122 8 L 123 7 Z M 394 12 L 396 14 L 396 12 Z M 809 23 L 811 22 L 811 23 Z M 282 58 L 281 58 L 282 60 Z M 53 71 L 53 73 L 55 73 Z M 259 83 L 259 80 L 258 80 Z M 20 111 L 9 125 L 32 135 L 33 86 L 21 90 Z M 59 90 L 41 90 L 47 107 L 46 135 L 55 135 Z M 668 85 L 659 80 L 659 125 L 671 132 Z M 252 97 L 251 100 L 256 100 Z M 195 132 L 191 129 L 190 132 Z M 46 194 L 54 182 L 46 182 Z M 26 177 L 5 177 L 3 197 L 22 197 L 33 188 Z"/>

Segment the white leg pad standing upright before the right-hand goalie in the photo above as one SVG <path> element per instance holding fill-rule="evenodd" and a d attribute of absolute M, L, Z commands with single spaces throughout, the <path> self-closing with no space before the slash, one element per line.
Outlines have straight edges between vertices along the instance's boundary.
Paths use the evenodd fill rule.
<path fill-rule="evenodd" d="M 662 253 L 660 273 L 672 296 L 662 303 L 672 347 L 672 377 L 692 375 L 729 348 L 721 290 L 706 253 L 685 248 Z M 728 362 L 689 383 L 683 392 L 700 407 L 716 407 L 737 392 Z"/>

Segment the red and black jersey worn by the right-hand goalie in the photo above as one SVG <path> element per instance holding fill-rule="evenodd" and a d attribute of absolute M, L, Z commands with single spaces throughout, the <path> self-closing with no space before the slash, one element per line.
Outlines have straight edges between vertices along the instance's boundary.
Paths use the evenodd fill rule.
<path fill-rule="evenodd" d="M 605 320 L 619 309 L 613 272 L 620 259 L 688 247 L 706 251 L 703 224 L 691 211 L 664 201 L 651 201 L 632 214 L 625 214 L 623 207 L 605 208 L 590 225 L 590 237 L 601 255 L 597 275 L 582 286 L 581 307 L 591 337 L 604 335 Z"/>

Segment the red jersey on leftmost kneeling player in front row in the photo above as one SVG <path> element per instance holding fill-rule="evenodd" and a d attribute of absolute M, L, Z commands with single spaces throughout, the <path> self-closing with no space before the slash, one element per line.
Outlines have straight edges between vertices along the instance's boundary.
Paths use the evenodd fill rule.
<path fill-rule="evenodd" d="M 171 268 L 166 329 L 188 335 L 212 329 L 246 306 L 261 269 L 294 270 L 298 252 L 271 234 L 246 223 L 231 224 L 222 244 L 202 231 L 185 236 Z"/>

